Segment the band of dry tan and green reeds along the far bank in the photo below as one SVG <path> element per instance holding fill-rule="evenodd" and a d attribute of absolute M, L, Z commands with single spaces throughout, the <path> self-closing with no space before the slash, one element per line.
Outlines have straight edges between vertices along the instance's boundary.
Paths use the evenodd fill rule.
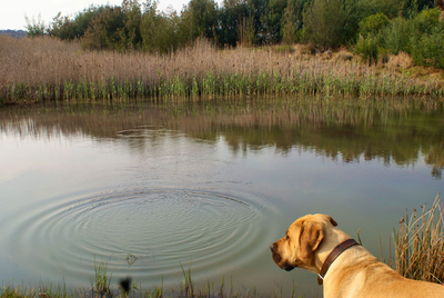
<path fill-rule="evenodd" d="M 50 38 L 0 37 L 0 103 L 22 100 L 252 95 L 444 96 L 443 74 L 393 56 L 367 66 L 350 52 L 216 50 L 198 40 L 172 54 L 82 51 Z"/>

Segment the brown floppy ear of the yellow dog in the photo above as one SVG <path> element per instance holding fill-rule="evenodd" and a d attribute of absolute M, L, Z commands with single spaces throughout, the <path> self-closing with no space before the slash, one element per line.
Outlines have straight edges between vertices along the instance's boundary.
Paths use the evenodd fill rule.
<path fill-rule="evenodd" d="M 324 239 L 322 225 L 316 221 L 304 221 L 299 236 L 301 259 L 307 259 Z"/>

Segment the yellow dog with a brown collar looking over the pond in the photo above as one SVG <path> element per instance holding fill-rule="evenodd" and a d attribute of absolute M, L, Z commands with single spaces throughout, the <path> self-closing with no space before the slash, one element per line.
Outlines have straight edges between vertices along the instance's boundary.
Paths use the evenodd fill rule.
<path fill-rule="evenodd" d="M 297 219 L 270 247 L 274 262 L 287 271 L 299 267 L 319 275 L 326 298 L 444 298 L 444 286 L 401 276 L 336 226 L 326 215 Z"/>

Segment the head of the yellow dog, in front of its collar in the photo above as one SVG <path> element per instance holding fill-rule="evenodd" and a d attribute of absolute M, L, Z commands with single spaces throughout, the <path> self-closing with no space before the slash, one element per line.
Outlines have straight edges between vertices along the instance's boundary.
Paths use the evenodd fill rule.
<path fill-rule="evenodd" d="M 286 230 L 285 237 L 270 247 L 274 262 L 286 271 L 299 267 L 315 272 L 314 254 L 327 230 L 336 226 L 336 221 L 326 215 L 299 218 Z"/>

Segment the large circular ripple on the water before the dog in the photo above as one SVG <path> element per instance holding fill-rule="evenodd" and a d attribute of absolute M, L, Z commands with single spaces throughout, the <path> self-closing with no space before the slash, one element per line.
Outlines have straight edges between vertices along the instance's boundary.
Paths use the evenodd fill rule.
<path fill-rule="evenodd" d="M 208 277 L 258 252 L 264 231 L 256 201 L 206 190 L 125 189 L 60 201 L 23 218 L 10 238 L 40 250 L 32 264 L 41 272 L 83 280 L 93 277 L 94 259 L 118 277 L 176 281 L 181 264 Z"/>

